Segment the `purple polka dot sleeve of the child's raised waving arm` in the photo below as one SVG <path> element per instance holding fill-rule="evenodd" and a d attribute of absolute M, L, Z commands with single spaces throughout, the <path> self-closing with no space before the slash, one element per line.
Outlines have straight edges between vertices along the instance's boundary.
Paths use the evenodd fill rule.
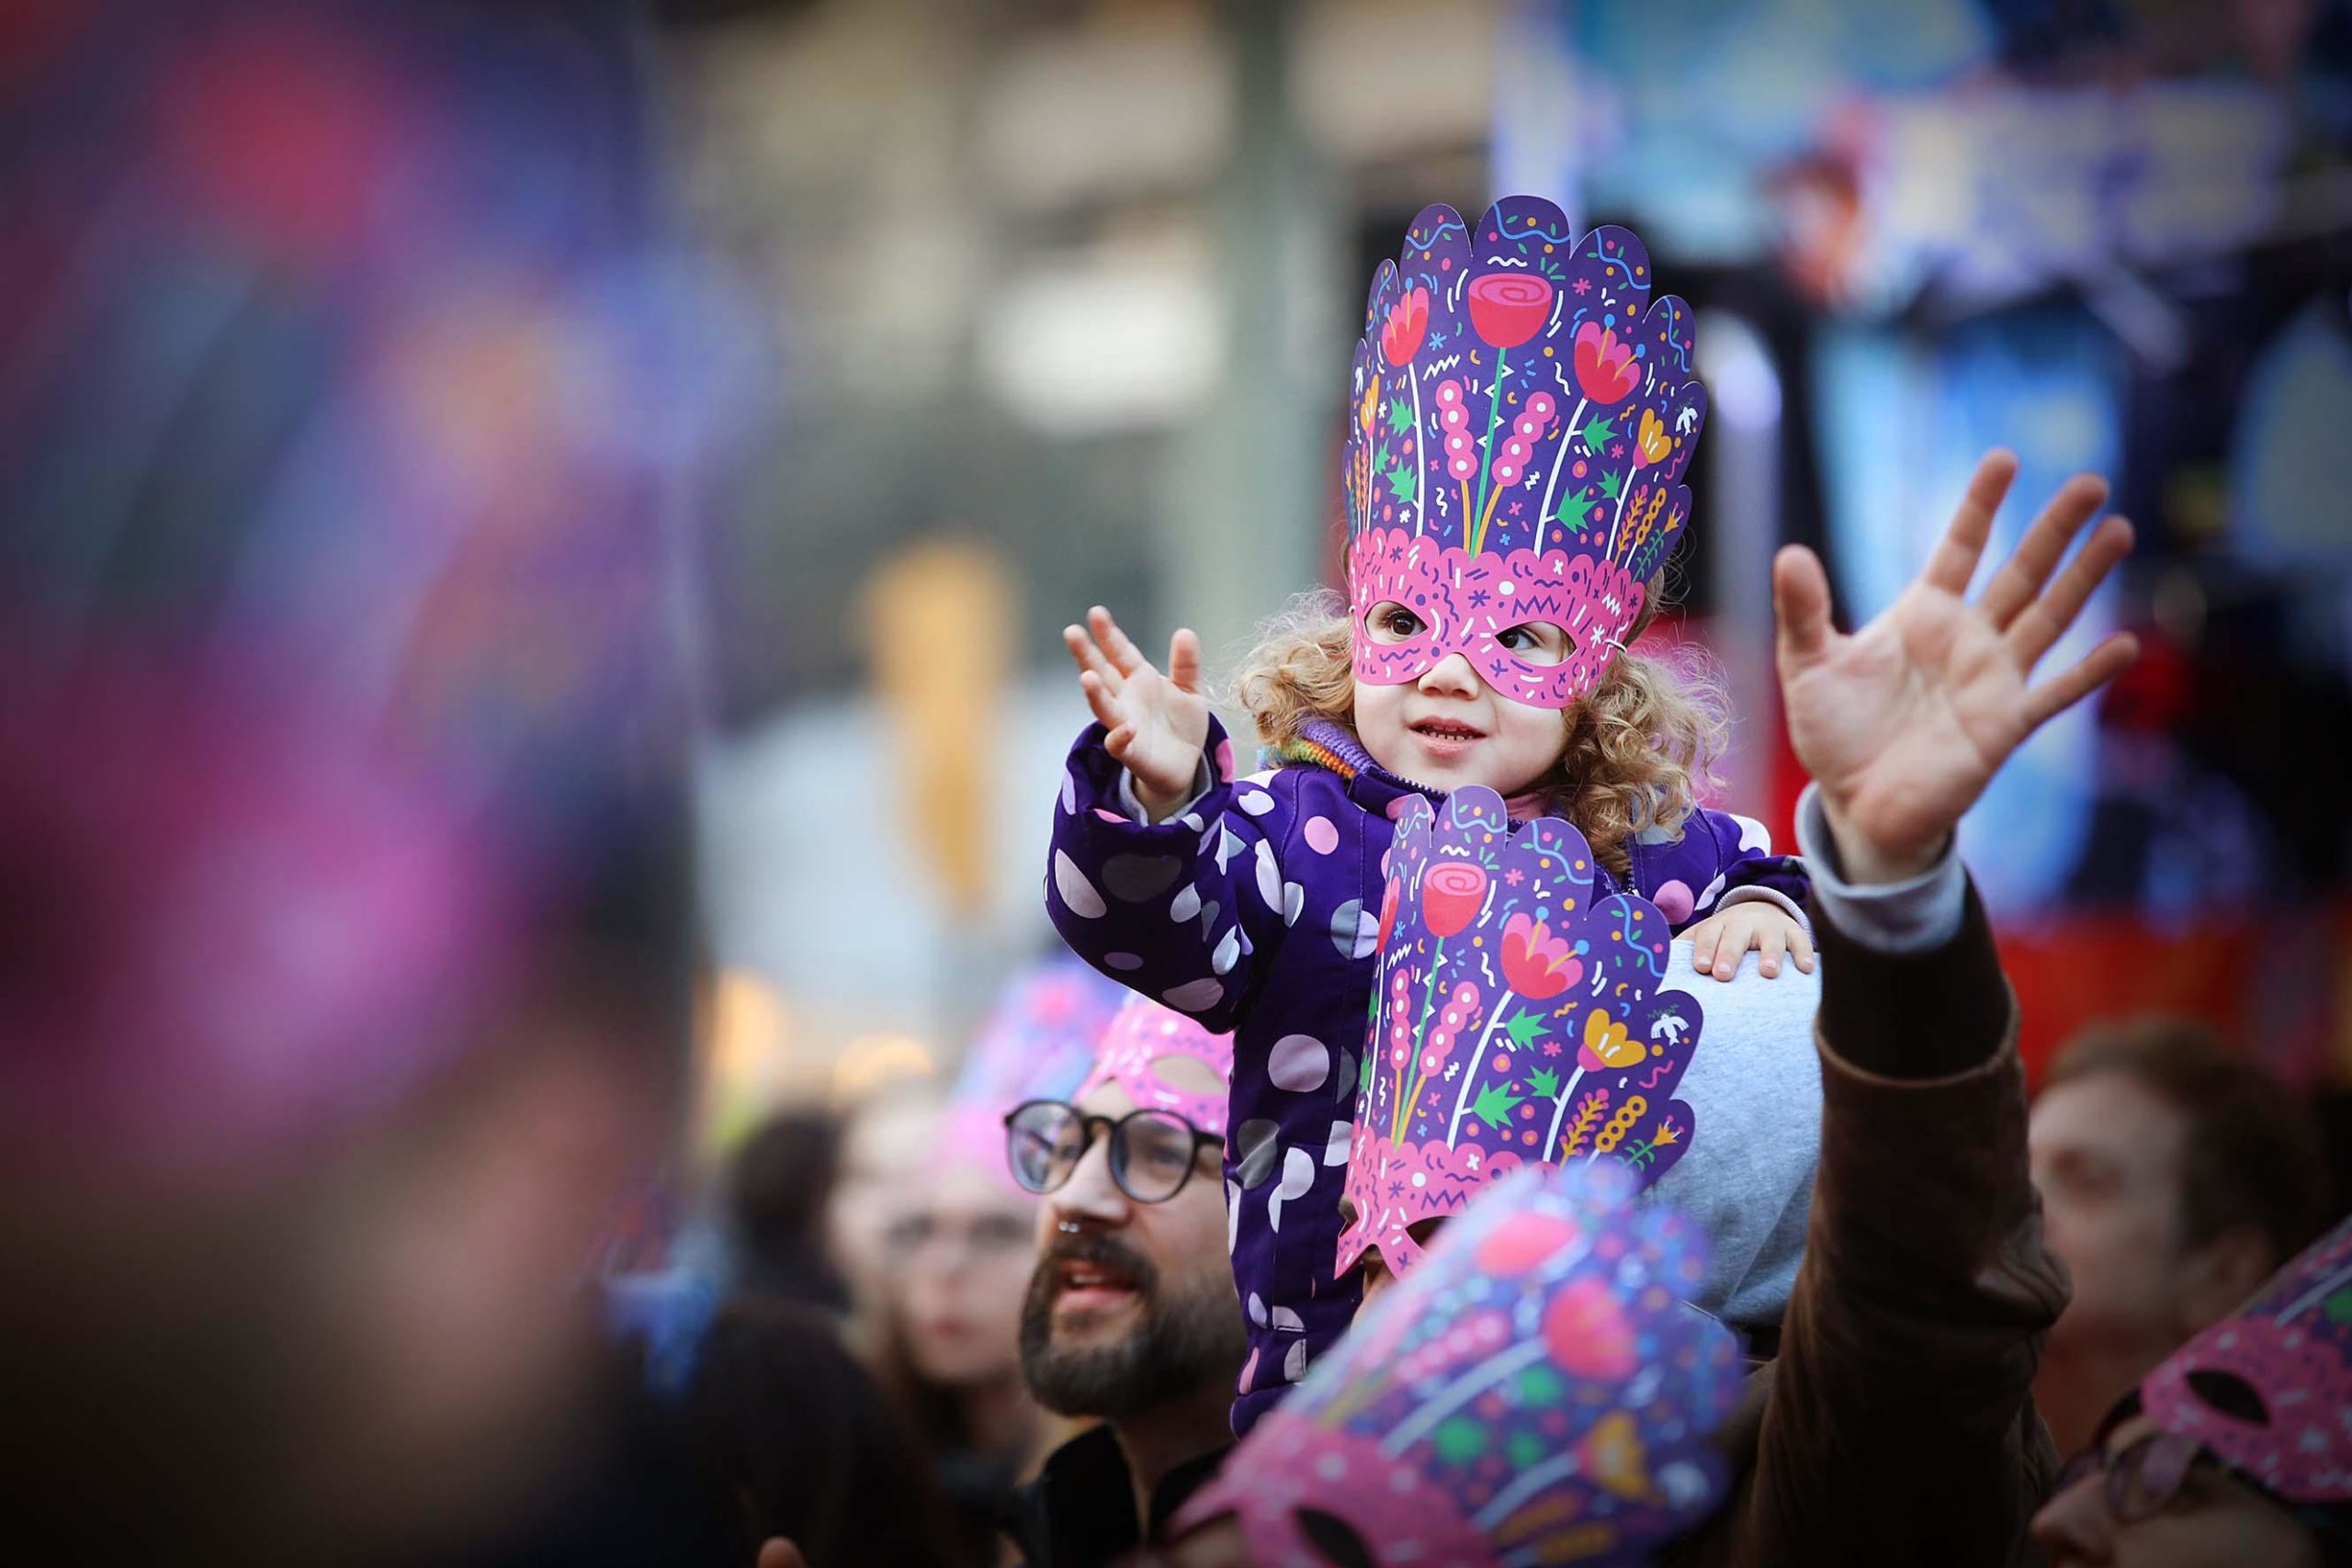
<path fill-rule="evenodd" d="M 1141 823 L 1103 726 L 1089 726 L 1061 783 L 1044 907 L 1070 952 L 1223 1032 L 1249 1009 L 1301 903 L 1279 860 L 1298 811 L 1284 773 L 1232 780 L 1232 743 L 1216 719 L 1204 759 L 1209 790 L 1164 823 Z"/>

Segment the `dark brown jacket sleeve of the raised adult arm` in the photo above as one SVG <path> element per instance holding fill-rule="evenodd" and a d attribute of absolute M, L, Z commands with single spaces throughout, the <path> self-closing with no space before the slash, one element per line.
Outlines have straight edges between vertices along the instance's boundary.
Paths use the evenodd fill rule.
<path fill-rule="evenodd" d="M 1922 954 L 1820 940 L 1820 1171 L 1780 1335 L 1724 1432 L 1693 1563 L 2032 1563 L 2032 1408 L 2067 1300 L 2025 1175 L 2016 999 L 1969 891 Z"/>

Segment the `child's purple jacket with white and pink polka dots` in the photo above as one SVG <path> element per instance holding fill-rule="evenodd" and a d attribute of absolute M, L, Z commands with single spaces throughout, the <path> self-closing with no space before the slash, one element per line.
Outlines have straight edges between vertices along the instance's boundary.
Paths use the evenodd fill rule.
<path fill-rule="evenodd" d="M 1232 1032 L 1225 1239 L 1249 1319 L 1232 1429 L 1287 1394 L 1355 1316 L 1334 1279 L 1378 945 L 1392 809 L 1442 792 L 1381 769 L 1338 724 L 1303 757 L 1235 778 L 1211 719 L 1207 790 L 1145 823 L 1094 724 L 1070 748 L 1047 912 L 1073 952 L 1124 985 Z M 1748 898 L 1802 914 L 1804 870 L 1759 823 L 1722 811 L 1630 844 L 1632 891 L 1675 929 Z M 1597 891 L 1621 891 L 1602 870 Z"/>

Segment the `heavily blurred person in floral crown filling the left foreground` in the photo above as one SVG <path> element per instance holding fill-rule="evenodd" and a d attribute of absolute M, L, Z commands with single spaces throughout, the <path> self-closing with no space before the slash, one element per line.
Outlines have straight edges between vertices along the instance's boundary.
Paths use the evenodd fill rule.
<path fill-rule="evenodd" d="M 113 1556 L 454 1554 L 581 1436 L 684 1077 L 640 40 L 52 16 L 0 153 L 14 1544 L 103 1493 Z"/>

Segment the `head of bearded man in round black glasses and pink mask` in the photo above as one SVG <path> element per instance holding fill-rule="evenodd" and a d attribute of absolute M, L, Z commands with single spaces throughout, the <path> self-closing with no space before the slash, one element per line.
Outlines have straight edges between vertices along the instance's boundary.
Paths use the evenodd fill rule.
<path fill-rule="evenodd" d="M 1230 1081 L 1230 1037 L 1136 999 L 1075 1100 L 1009 1119 L 1014 1175 L 1044 1192 L 1021 1312 L 1044 1408 L 1112 1425 L 1176 1410 L 1195 1450 L 1223 1439 L 1249 1349 L 1218 1168 Z"/>

